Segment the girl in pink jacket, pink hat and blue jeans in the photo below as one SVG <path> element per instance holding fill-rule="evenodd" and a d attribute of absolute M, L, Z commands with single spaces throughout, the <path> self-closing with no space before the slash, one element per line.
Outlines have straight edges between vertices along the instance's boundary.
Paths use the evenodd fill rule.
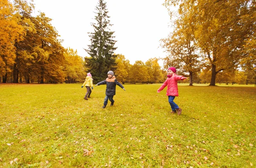
<path fill-rule="evenodd" d="M 167 86 L 166 95 L 169 98 L 169 104 L 172 108 L 172 113 L 176 113 L 178 115 L 181 114 L 182 109 L 173 101 L 175 96 L 179 96 L 178 94 L 178 83 L 179 80 L 184 80 L 186 77 L 181 75 L 176 75 L 176 68 L 170 67 L 167 70 L 167 79 L 163 82 L 162 86 L 157 90 L 157 93 L 160 93 Z"/>

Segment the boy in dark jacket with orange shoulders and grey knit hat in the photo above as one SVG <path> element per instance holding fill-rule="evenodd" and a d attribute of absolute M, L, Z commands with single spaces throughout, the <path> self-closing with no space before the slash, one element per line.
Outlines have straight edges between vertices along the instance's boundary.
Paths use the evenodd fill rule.
<path fill-rule="evenodd" d="M 108 104 L 108 99 L 109 101 L 111 101 L 110 106 L 113 106 L 114 104 L 114 100 L 113 97 L 114 95 L 116 95 L 116 85 L 118 85 L 119 87 L 121 87 L 123 90 L 125 90 L 125 87 L 123 87 L 122 84 L 120 84 L 117 80 L 116 77 L 114 76 L 114 72 L 113 71 L 108 71 L 108 78 L 106 78 L 106 80 L 101 81 L 99 83 L 97 83 L 95 85 L 99 86 L 101 84 L 107 84 L 107 88 L 106 88 L 106 97 L 104 99 L 104 105 L 102 106 L 102 108 L 105 108 Z"/>

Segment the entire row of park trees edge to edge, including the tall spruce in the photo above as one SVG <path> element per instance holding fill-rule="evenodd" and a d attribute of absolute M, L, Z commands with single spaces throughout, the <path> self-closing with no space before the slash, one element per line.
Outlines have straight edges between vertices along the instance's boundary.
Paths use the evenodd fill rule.
<path fill-rule="evenodd" d="M 174 31 L 162 39 L 164 69 L 193 83 L 256 84 L 256 10 L 253 0 L 166 0 Z M 171 6 L 178 6 L 177 12 Z M 44 13 L 33 17 L 29 0 L 0 1 L 0 82 L 76 83 L 91 72 L 94 82 L 109 70 L 122 83 L 158 83 L 166 78 L 157 58 L 133 65 L 115 54 L 115 36 L 104 0 L 96 6 L 94 32 L 82 58 L 65 49 Z"/>

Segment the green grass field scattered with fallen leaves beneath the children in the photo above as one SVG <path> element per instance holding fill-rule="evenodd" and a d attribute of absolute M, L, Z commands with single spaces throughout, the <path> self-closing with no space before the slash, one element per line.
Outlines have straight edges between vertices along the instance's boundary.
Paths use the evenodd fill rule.
<path fill-rule="evenodd" d="M 256 167 L 256 87 L 160 85 L 0 84 L 0 168 Z"/>

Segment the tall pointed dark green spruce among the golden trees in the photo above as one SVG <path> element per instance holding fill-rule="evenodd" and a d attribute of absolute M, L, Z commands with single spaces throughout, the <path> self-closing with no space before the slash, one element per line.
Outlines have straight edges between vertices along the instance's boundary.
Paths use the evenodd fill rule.
<path fill-rule="evenodd" d="M 94 32 L 89 33 L 91 44 L 88 45 L 88 49 L 85 49 L 90 55 L 89 58 L 85 58 L 85 61 L 96 82 L 104 80 L 107 72 L 114 70 L 116 66 L 116 56 L 113 55 L 116 50 L 114 47 L 116 41 L 114 32 L 110 30 L 112 24 L 109 18 L 106 2 L 99 0 L 96 6 L 96 23 L 91 23 Z"/>

